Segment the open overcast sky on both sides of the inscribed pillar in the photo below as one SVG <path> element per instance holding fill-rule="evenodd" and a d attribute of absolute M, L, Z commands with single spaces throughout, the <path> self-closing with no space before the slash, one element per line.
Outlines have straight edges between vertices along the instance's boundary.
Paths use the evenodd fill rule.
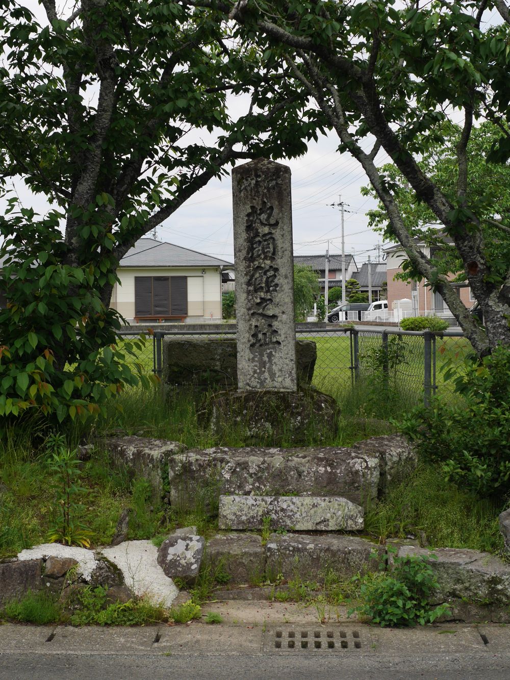
<path fill-rule="evenodd" d="M 336 148 L 334 137 L 323 137 L 302 158 L 284 161 L 292 171 L 294 254 L 325 253 L 328 239 L 330 253 L 341 252 L 340 209 L 331 205 L 339 203 L 341 195 L 348 204 L 344 208 L 345 252 L 354 249 L 360 262 L 369 254 L 375 259 L 373 249 L 381 238 L 367 227 L 365 216 L 375 201 L 360 194 L 360 187 L 368 184 L 360 165 Z M 158 239 L 232 260 L 231 190 L 230 176 L 209 182 L 158 227 Z"/>

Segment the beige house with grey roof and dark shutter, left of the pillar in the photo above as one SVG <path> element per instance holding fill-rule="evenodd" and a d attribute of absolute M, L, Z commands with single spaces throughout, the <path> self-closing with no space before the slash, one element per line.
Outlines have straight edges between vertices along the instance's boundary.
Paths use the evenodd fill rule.
<path fill-rule="evenodd" d="M 143 238 L 120 260 L 110 305 L 129 321 L 222 318 L 222 272 L 231 262 Z"/>

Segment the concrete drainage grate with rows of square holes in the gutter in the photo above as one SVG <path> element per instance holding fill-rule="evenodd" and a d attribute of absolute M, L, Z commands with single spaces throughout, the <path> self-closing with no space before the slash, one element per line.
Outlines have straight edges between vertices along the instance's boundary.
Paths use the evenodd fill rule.
<path fill-rule="evenodd" d="M 347 628 L 276 628 L 268 630 L 265 651 L 356 651 L 362 649 L 359 630 Z"/>

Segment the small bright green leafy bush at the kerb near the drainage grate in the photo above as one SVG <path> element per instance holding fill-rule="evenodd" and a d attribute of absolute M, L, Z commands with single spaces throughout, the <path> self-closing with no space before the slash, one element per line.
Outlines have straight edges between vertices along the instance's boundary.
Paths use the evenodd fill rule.
<path fill-rule="evenodd" d="M 389 547 L 388 552 L 394 554 L 396 550 Z M 379 566 L 386 567 L 386 556 Z M 430 607 L 428 600 L 436 588 L 437 581 L 426 557 L 394 557 L 385 577 L 362 578 L 362 602 L 349 613 L 357 611 L 381 627 L 432 624 L 448 611 L 445 605 Z"/>

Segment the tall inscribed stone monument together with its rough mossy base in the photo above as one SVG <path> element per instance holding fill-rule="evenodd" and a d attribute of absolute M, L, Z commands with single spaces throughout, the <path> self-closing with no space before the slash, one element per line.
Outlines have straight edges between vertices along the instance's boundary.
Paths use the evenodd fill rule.
<path fill-rule="evenodd" d="M 237 391 L 209 398 L 207 418 L 220 432 L 301 443 L 337 428 L 335 400 L 299 387 L 296 373 L 290 169 L 267 158 L 232 173 Z"/>

